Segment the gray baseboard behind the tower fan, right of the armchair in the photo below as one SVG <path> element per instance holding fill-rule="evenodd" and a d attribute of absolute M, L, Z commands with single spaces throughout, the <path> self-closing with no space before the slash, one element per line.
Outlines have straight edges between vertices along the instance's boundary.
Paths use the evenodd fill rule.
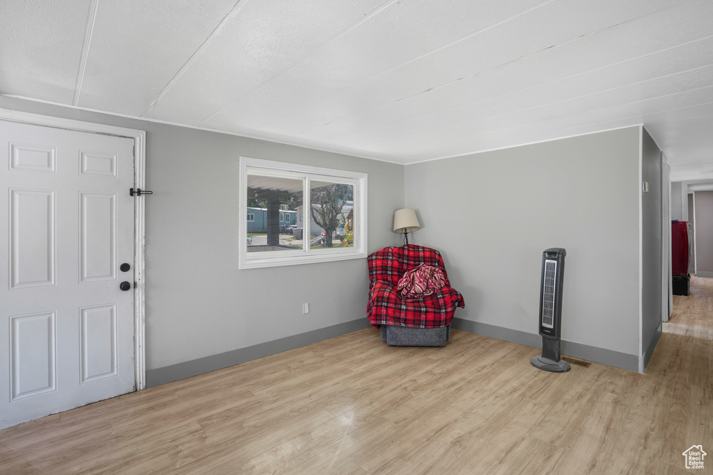
<path fill-rule="evenodd" d="M 542 348 L 542 337 L 538 333 L 527 333 L 511 328 L 498 327 L 497 325 L 489 325 L 488 323 L 463 320 L 463 318 L 453 318 L 451 328 L 475 333 L 476 335 L 497 338 L 498 340 L 506 340 L 512 343 L 518 343 L 519 345 Z M 653 348 L 651 351 L 653 352 Z M 565 340 L 562 340 L 562 353 L 563 355 L 580 358 L 581 360 L 639 372 L 639 358 L 636 355 L 629 355 L 628 353 L 620 353 L 614 350 L 597 348 L 595 346 Z"/>

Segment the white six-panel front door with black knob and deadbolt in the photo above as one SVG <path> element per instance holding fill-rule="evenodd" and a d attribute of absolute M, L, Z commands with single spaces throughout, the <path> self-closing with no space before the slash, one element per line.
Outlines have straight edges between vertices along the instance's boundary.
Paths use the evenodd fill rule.
<path fill-rule="evenodd" d="M 0 121 L 0 429 L 135 388 L 133 144 Z"/>

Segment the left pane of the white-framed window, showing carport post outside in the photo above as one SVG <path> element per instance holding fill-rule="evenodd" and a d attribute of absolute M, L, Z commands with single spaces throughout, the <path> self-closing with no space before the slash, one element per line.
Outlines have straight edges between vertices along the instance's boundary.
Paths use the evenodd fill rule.
<path fill-rule="evenodd" d="M 247 174 L 247 252 L 302 251 L 297 222 L 302 183 L 299 178 Z"/>

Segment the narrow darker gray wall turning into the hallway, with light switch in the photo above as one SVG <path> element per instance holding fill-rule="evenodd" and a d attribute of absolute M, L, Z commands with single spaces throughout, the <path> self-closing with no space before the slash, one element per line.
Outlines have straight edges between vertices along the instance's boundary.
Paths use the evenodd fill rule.
<path fill-rule="evenodd" d="M 642 193 L 642 293 L 641 342 L 644 362 L 648 361 L 661 335 L 662 296 L 662 200 L 661 150 L 647 130 L 642 129 L 642 181 L 649 191 Z M 643 370 L 644 367 L 640 367 Z"/>

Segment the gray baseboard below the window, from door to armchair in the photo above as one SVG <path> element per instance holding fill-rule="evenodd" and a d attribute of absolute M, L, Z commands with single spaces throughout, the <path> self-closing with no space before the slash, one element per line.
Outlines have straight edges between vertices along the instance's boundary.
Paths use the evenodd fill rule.
<path fill-rule="evenodd" d="M 165 385 L 167 382 L 183 380 L 186 377 L 202 375 L 204 372 L 220 370 L 242 362 L 257 360 L 265 356 L 275 355 L 300 346 L 317 343 L 336 336 L 346 335 L 358 330 L 369 328 L 369 319 L 359 318 L 350 322 L 339 323 L 326 328 L 319 328 L 299 335 L 292 335 L 279 340 L 272 340 L 259 345 L 238 348 L 218 355 L 211 355 L 198 360 L 190 360 L 176 365 L 155 368 L 146 371 L 146 387 Z"/>

